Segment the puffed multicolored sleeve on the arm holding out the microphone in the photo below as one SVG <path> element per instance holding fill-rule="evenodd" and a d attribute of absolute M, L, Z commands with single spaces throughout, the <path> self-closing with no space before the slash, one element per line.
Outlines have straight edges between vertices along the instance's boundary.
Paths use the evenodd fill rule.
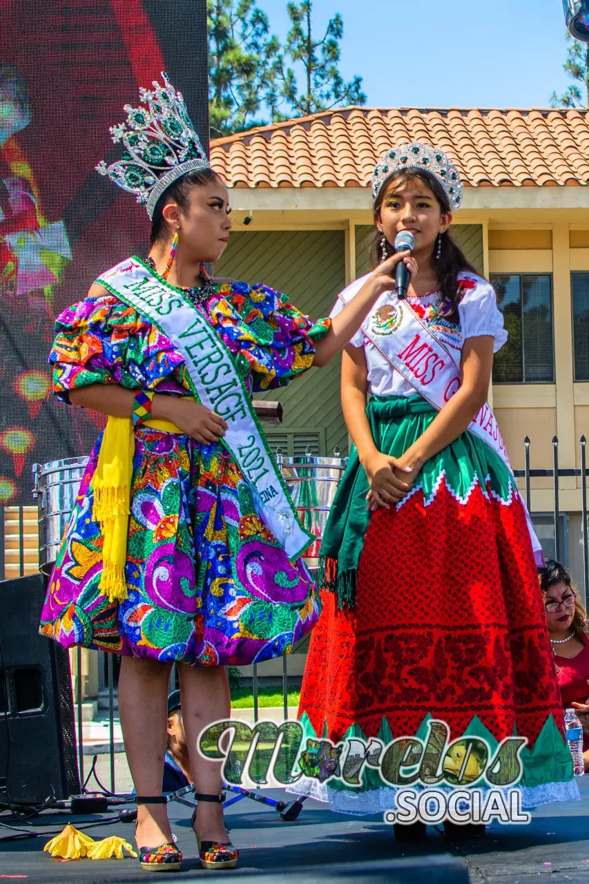
<path fill-rule="evenodd" d="M 309 370 L 315 343 L 325 338 L 331 319 L 313 322 L 286 295 L 268 286 L 233 283 L 231 290 L 227 300 L 241 318 L 232 329 L 232 338 L 239 340 L 240 359 L 249 362 L 252 392 L 286 386 Z"/>

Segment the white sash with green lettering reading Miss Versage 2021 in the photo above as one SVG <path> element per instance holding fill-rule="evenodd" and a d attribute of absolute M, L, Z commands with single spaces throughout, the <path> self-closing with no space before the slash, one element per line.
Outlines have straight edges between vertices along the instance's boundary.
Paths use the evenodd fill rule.
<path fill-rule="evenodd" d="M 228 424 L 222 444 L 249 484 L 256 513 L 289 560 L 297 559 L 315 538 L 302 527 L 233 358 L 203 313 L 135 257 L 96 282 L 149 317 L 180 352 L 195 400 Z"/>

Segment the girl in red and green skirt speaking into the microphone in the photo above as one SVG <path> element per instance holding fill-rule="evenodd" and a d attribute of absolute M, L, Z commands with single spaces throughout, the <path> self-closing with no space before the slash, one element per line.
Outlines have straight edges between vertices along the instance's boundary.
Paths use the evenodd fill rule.
<path fill-rule="evenodd" d="M 308 736 L 344 744 L 425 738 L 430 717 L 452 741 L 481 737 L 492 753 L 525 736 L 524 804 L 570 800 L 541 549 L 486 405 L 507 334 L 493 287 L 448 233 L 458 172 L 439 151 L 403 145 L 381 158 L 372 194 L 380 260 L 410 231 L 418 269 L 407 299 L 383 293 L 343 356 L 354 447 L 321 547 L 325 604 L 299 716 Z M 332 315 L 364 284 L 348 286 Z M 395 804 L 394 786 L 369 767 L 356 787 L 291 788 L 341 812 Z"/>

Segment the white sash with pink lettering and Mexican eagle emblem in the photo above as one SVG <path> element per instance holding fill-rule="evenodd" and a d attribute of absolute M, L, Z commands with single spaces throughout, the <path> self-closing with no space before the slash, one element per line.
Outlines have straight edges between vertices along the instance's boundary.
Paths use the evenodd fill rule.
<path fill-rule="evenodd" d="M 366 278 L 356 279 L 356 282 L 345 288 L 338 295 L 340 301 L 348 304 L 362 288 Z M 363 334 L 416 392 L 433 408 L 441 411 L 460 387 L 460 354 L 453 354 L 432 334 L 427 325 L 411 309 L 408 301 L 399 301 L 393 292 L 388 292 L 386 295 L 388 296 L 386 302 L 383 304 L 379 300 L 377 306 L 364 320 Z M 377 310 L 385 307 L 386 317 L 381 320 L 382 332 L 379 334 L 371 330 L 370 320 Z M 513 476 L 499 425 L 486 403 L 479 409 L 467 430 L 492 448 Z M 542 547 L 536 537 L 524 499 L 520 492 L 517 494 L 524 506 L 536 564 L 542 567 L 544 565 Z"/>

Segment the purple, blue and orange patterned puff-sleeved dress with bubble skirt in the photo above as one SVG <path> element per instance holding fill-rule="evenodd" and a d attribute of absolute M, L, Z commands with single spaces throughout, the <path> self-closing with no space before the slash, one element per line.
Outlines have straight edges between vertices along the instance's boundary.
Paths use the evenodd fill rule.
<path fill-rule="evenodd" d="M 266 286 L 215 287 L 203 308 L 241 365 L 249 392 L 287 385 L 308 370 L 311 324 Z M 119 384 L 187 395 L 186 366 L 161 331 L 112 294 L 88 297 L 57 320 L 54 390 Z M 41 632 L 66 647 L 196 666 L 247 664 L 289 652 L 317 621 L 318 598 L 302 560 L 291 563 L 261 522 L 222 443 L 135 432 L 126 559 L 128 598 L 98 591 L 102 538 L 92 518 L 100 440 L 82 478 L 42 612 Z"/>

